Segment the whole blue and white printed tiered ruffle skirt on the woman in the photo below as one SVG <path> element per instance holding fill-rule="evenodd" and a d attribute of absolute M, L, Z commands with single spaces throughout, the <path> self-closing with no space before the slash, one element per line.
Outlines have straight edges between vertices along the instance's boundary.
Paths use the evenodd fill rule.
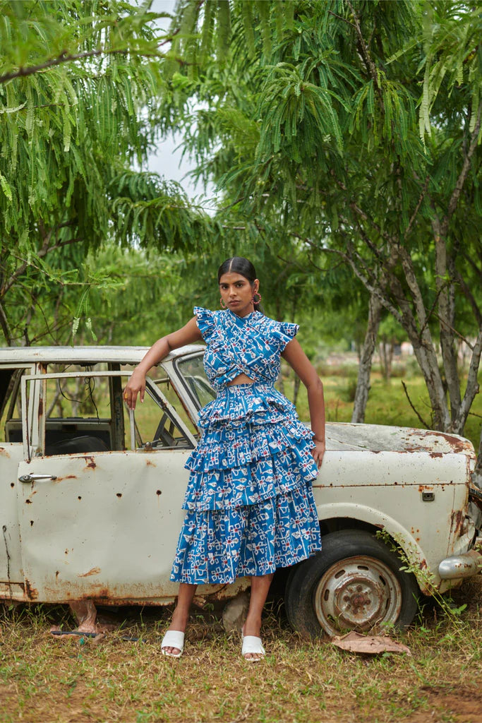
<path fill-rule="evenodd" d="M 199 413 L 171 580 L 231 583 L 321 549 L 312 432 L 272 384 L 226 386 Z"/>

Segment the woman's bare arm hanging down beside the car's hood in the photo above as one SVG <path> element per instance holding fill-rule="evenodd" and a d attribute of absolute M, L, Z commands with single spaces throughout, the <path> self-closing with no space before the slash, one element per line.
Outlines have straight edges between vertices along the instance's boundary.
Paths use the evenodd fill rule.
<path fill-rule="evenodd" d="M 322 466 L 324 440 L 324 395 L 323 385 L 316 369 L 304 353 L 296 339 L 292 339 L 281 354 L 283 359 L 294 369 L 308 391 L 309 416 L 311 429 L 314 432 L 315 447 L 312 450 L 318 468 Z"/>

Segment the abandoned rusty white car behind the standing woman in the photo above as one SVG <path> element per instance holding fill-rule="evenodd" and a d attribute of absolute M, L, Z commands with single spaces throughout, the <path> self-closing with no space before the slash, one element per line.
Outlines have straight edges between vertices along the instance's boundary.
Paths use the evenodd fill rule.
<path fill-rule="evenodd" d="M 0 350 L 4 601 L 173 602 L 184 462 L 197 443 L 199 408 L 215 393 L 204 348 L 186 346 L 151 370 L 145 403 L 129 411 L 122 388 L 145 351 Z M 323 550 L 287 576 L 293 627 L 314 636 L 407 625 L 420 592 L 477 573 L 474 463 L 462 437 L 328 424 L 314 484 Z M 199 594 L 228 600 L 248 585 L 239 579 Z"/>

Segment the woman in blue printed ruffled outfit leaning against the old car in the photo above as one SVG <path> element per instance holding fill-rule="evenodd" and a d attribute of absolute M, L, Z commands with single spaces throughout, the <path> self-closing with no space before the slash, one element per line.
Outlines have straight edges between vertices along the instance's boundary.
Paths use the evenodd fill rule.
<path fill-rule="evenodd" d="M 218 270 L 220 311 L 196 307 L 186 326 L 155 342 L 132 374 L 124 397 L 143 401 L 145 376 L 172 349 L 207 344 L 205 369 L 218 397 L 199 412 L 202 437 L 191 471 L 171 580 L 179 583 L 163 654 L 179 657 L 198 583 L 231 583 L 251 576 L 251 597 L 241 654 L 264 656 L 259 632 L 275 569 L 321 549 L 311 482 L 324 455 L 322 382 L 294 338 L 296 324 L 259 311 L 259 280 L 242 257 Z M 274 387 L 280 356 L 308 390 L 311 430 Z"/>

